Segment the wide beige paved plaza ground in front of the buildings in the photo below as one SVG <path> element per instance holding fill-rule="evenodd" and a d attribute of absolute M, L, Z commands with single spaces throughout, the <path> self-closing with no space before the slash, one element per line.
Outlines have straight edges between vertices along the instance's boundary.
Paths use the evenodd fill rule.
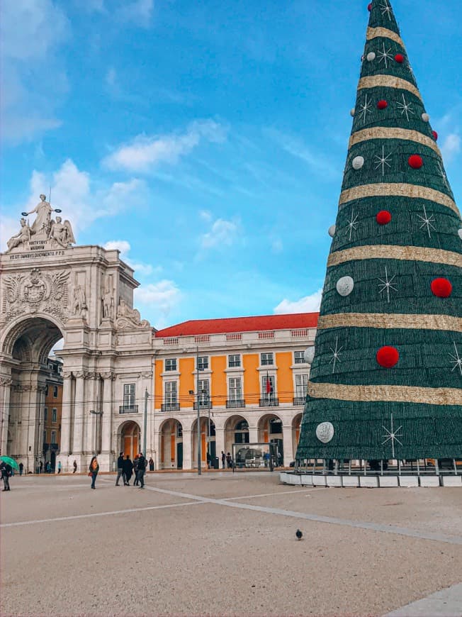
<path fill-rule="evenodd" d="M 2 615 L 462 615 L 462 490 L 149 474 L 18 477 Z M 295 538 L 295 530 L 303 539 Z M 447 589 L 450 588 L 450 589 Z"/>

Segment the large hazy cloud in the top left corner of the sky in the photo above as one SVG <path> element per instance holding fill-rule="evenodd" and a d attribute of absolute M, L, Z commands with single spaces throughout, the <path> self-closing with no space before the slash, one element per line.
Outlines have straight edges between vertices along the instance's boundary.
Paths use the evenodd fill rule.
<path fill-rule="evenodd" d="M 67 16 L 52 0 L 2 4 L 0 112 L 4 140 L 18 143 L 60 126 L 54 111 L 68 85 L 58 50 L 69 31 Z M 41 88 L 37 87 L 40 83 Z"/>

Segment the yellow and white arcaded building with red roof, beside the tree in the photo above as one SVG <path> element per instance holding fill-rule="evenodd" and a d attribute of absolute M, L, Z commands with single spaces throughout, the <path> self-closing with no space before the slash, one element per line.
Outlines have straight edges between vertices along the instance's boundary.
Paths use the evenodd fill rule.
<path fill-rule="evenodd" d="M 318 313 L 185 321 L 154 335 L 156 469 L 197 467 L 235 443 L 275 443 L 295 457 Z M 220 463 L 221 466 L 221 463 Z"/>

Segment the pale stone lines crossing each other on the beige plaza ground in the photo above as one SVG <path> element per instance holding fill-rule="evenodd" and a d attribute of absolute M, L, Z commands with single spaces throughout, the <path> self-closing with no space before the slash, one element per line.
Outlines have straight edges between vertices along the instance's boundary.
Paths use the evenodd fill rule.
<path fill-rule="evenodd" d="M 101 479 L 100 481 L 103 484 L 112 484 L 109 480 Z M 147 487 L 145 486 L 145 490 L 154 491 L 157 493 L 167 494 L 174 497 L 179 497 L 180 499 L 187 499 L 186 503 L 180 504 L 166 504 L 164 506 L 150 506 L 147 508 L 128 508 L 126 510 L 118 510 L 118 511 L 108 511 L 108 512 L 95 512 L 89 514 L 79 514 L 74 516 L 62 516 L 57 518 L 48 518 L 48 519 L 38 519 L 36 521 L 21 521 L 17 523 L 3 523 L 0 525 L 3 527 L 15 527 L 22 525 L 32 525 L 34 523 L 45 523 L 52 521 L 66 521 L 73 518 L 91 518 L 95 516 L 111 516 L 115 514 L 123 514 L 123 513 L 131 513 L 142 510 L 154 510 L 158 508 L 170 508 L 170 507 L 178 507 L 178 506 L 190 506 L 192 504 L 216 504 L 218 506 L 225 506 L 227 508 L 240 508 L 244 510 L 252 510 L 256 512 L 266 513 L 266 514 L 276 514 L 277 516 L 288 516 L 291 518 L 300 518 L 306 521 L 316 521 L 318 523 L 328 523 L 331 525 L 340 525 L 352 528 L 366 529 L 370 531 L 377 531 L 381 533 L 391 533 L 395 535 L 405 535 L 410 538 L 419 538 L 420 540 L 433 540 L 436 542 L 442 542 L 447 544 L 455 544 L 462 545 L 462 536 L 458 535 L 446 535 L 444 533 L 435 533 L 430 531 L 423 530 L 415 530 L 412 528 L 398 527 L 394 525 L 382 525 L 380 523 L 366 523 L 365 521 L 351 521 L 346 518 L 337 518 L 332 516 L 320 516 L 317 514 L 310 514 L 305 512 L 296 512 L 291 510 L 283 510 L 281 508 L 269 508 L 266 506 L 254 506 L 252 504 L 241 504 L 236 501 L 230 501 L 230 499 L 213 499 L 212 497 L 205 497 L 201 495 L 193 495 L 190 493 L 184 493 L 181 491 L 171 491 L 168 489 L 160 489 L 158 487 Z M 284 494 L 286 492 L 300 492 L 300 491 L 281 491 L 276 494 Z M 274 494 L 274 493 L 273 493 Z M 273 495 L 269 494 L 269 495 Z M 257 497 L 257 495 L 255 496 Z M 232 499 L 252 499 L 252 496 L 232 498 Z"/>

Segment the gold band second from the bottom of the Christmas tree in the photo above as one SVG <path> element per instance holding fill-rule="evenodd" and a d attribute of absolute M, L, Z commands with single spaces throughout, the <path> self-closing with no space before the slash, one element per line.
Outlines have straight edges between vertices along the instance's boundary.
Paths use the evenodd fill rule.
<path fill-rule="evenodd" d="M 462 332 L 462 318 L 402 313 L 335 313 L 322 315 L 317 320 L 317 329 L 325 328 L 410 328 Z"/>

